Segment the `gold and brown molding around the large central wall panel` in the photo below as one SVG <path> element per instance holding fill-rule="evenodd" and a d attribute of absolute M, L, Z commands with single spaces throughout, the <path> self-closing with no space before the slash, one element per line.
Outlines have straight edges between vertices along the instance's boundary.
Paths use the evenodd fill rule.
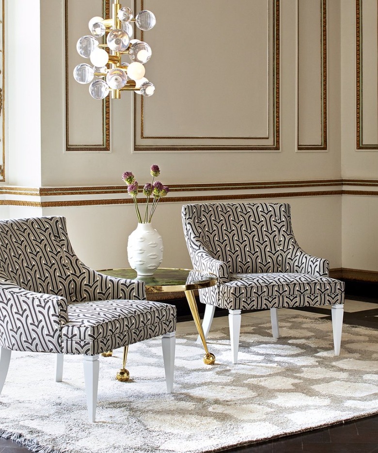
<path fill-rule="evenodd" d="M 272 92 L 272 101 L 271 103 L 271 114 L 272 114 L 272 127 L 269 126 L 268 136 L 253 136 L 253 137 L 243 137 L 243 136 L 154 136 L 147 135 L 145 133 L 145 100 L 144 97 L 134 95 L 134 150 L 135 151 L 277 151 L 280 150 L 280 0 L 269 0 L 272 5 L 272 83 L 273 92 Z M 146 0 L 134 0 L 134 10 L 138 10 L 138 5 L 140 9 L 147 8 Z M 269 6 L 270 9 L 270 6 Z M 173 20 L 173 19 L 172 19 Z M 141 39 L 143 40 L 143 32 L 141 34 Z M 269 113 L 270 115 L 270 113 Z M 269 116 L 268 121 L 271 121 Z M 231 141 L 246 141 L 246 140 L 267 140 L 272 139 L 272 144 L 232 144 Z M 175 140 L 174 144 L 163 144 L 163 145 L 151 145 L 151 144 L 142 144 L 143 140 Z M 208 143 L 197 144 L 179 144 L 179 141 L 189 141 L 189 140 L 204 140 L 205 142 L 211 140 L 217 140 L 218 143 L 214 145 L 209 145 Z M 220 140 L 227 141 L 227 144 L 219 144 Z"/>

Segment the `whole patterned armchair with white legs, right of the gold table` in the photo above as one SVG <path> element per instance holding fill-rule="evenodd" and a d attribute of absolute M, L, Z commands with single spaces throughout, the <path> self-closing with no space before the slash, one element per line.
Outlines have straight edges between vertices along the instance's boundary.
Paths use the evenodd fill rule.
<path fill-rule="evenodd" d="M 344 283 L 329 275 L 326 259 L 305 253 L 294 238 L 286 203 L 211 203 L 182 208 L 184 234 L 195 269 L 218 284 L 200 292 L 207 336 L 215 307 L 229 310 L 231 352 L 237 363 L 241 310 L 331 304 L 335 355 L 340 354 Z"/>

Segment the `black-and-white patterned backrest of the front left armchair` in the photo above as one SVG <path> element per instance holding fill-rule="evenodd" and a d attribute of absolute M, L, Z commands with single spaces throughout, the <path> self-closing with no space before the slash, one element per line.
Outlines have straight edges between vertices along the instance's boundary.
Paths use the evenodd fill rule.
<path fill-rule="evenodd" d="M 64 217 L 0 220 L 0 281 L 70 301 Z"/>

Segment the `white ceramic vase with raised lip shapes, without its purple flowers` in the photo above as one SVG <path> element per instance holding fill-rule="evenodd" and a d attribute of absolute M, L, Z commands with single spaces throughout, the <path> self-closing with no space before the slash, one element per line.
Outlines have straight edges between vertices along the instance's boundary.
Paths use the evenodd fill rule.
<path fill-rule="evenodd" d="M 127 242 L 127 258 L 138 275 L 153 275 L 163 260 L 163 240 L 150 223 L 139 223 Z"/>

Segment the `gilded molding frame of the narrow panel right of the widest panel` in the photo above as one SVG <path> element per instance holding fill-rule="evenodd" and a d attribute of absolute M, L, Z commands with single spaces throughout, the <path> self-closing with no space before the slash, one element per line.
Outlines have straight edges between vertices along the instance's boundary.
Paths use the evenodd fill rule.
<path fill-rule="evenodd" d="M 299 117 L 300 115 L 300 105 L 299 105 L 299 75 L 297 79 L 297 143 L 298 150 L 327 150 L 327 0 L 318 0 L 320 8 L 320 36 L 318 42 L 320 43 L 320 61 L 319 61 L 319 71 L 321 78 L 321 90 L 319 93 L 320 100 L 320 144 L 304 144 L 299 142 Z M 299 49 L 299 5 L 303 5 L 303 2 L 297 0 L 298 8 L 298 49 Z M 316 41 L 317 42 L 317 41 Z M 298 67 L 299 67 L 299 51 L 298 51 Z M 299 74 L 299 71 L 298 71 Z"/>

